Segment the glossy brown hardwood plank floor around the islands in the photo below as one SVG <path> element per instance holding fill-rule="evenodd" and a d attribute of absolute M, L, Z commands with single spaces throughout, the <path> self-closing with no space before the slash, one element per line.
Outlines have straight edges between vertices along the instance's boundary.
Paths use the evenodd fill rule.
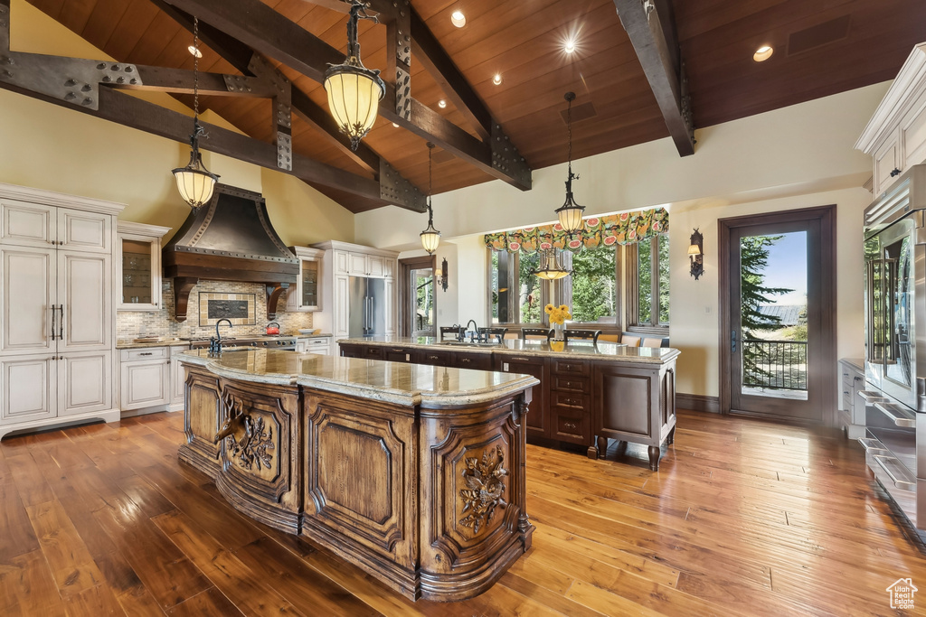
<path fill-rule="evenodd" d="M 478 598 L 413 603 L 233 511 L 177 461 L 181 421 L 0 442 L 0 615 L 895 615 L 887 586 L 926 585 L 857 446 L 682 412 L 658 473 L 529 446 L 532 549 Z"/>

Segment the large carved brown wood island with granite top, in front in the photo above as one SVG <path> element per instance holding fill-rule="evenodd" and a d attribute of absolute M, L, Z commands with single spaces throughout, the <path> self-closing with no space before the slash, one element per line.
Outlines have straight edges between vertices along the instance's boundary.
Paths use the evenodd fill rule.
<path fill-rule="evenodd" d="M 186 352 L 182 461 L 232 505 L 407 598 L 476 596 L 531 546 L 531 376 L 274 350 Z"/>

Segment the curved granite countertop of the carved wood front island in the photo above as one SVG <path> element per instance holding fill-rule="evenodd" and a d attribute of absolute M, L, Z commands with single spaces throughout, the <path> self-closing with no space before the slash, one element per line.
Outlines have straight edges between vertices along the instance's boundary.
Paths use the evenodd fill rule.
<path fill-rule="evenodd" d="M 247 349 L 210 356 L 190 350 L 181 361 L 228 379 L 300 385 L 400 405 L 446 407 L 494 401 L 538 383 L 532 376 L 424 364 Z"/>

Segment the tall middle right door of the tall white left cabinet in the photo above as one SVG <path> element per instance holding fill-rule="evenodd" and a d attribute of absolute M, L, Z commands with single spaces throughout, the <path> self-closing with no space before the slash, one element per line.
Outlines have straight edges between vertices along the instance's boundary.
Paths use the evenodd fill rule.
<path fill-rule="evenodd" d="M 109 255 L 58 251 L 57 262 L 58 337 L 63 335 L 58 341 L 58 351 L 109 349 L 112 338 Z"/>

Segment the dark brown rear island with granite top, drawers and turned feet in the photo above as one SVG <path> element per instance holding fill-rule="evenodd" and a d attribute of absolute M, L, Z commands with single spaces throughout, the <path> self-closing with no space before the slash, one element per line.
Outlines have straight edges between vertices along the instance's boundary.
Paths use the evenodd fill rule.
<path fill-rule="evenodd" d="M 501 343 L 377 337 L 338 341 L 344 356 L 531 375 L 527 437 L 540 445 L 585 446 L 604 456 L 607 439 L 648 446 L 659 469 L 663 444 L 675 438 L 675 360 L 669 348 L 573 340 L 505 339 Z"/>

